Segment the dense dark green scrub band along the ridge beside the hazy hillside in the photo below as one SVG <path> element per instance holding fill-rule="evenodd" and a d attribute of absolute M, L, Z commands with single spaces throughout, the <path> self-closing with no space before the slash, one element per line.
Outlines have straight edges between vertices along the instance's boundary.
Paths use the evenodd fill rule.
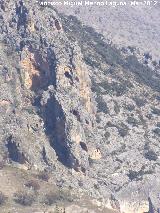
<path fill-rule="evenodd" d="M 155 80 L 152 70 L 140 63 L 136 55 L 132 54 L 124 60 L 121 50 L 106 43 L 103 35 L 95 32 L 92 27 L 83 25 L 74 16 L 63 16 L 61 18 L 64 30 L 68 34 L 68 38 L 72 41 L 78 40 L 84 55 L 84 60 L 87 59 L 86 63 L 88 62 L 90 66 L 98 67 L 99 61 L 108 65 L 120 65 L 124 69 L 134 73 L 138 82 L 160 91 L 159 80 Z M 134 52 L 133 47 L 129 48 L 131 52 Z M 90 55 L 92 56 L 90 57 Z M 90 58 L 94 58 L 94 60 Z M 150 58 L 151 56 L 148 53 L 145 53 L 145 59 L 148 60 Z"/>

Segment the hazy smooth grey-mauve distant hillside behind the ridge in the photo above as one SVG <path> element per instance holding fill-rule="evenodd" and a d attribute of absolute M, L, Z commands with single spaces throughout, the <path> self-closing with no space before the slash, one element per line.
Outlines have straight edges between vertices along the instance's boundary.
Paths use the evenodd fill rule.
<path fill-rule="evenodd" d="M 118 47 L 138 47 L 141 53 L 149 52 L 159 61 L 160 2 L 129 0 L 107 2 L 108 6 L 66 5 L 57 6 L 57 9 L 65 14 L 77 16 L 85 25 L 92 26 Z"/>

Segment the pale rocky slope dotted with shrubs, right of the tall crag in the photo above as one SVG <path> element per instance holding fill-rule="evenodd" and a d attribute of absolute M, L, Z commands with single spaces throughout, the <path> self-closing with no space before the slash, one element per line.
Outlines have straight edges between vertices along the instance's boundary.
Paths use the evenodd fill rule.
<path fill-rule="evenodd" d="M 135 200 L 158 193 L 154 190 L 159 182 L 159 77 L 134 55 L 124 60 L 117 49 L 104 43 L 102 35 L 75 17 L 63 20 L 67 34 L 79 41 L 91 68 L 98 135 L 102 137 L 97 143 L 102 159 L 96 162 L 98 166 L 92 165 L 93 176 L 100 190 L 108 186 L 120 200 L 131 199 L 131 207 L 122 201 L 122 209 L 126 205 L 132 212 Z M 138 205 L 134 211 L 142 212 Z"/>

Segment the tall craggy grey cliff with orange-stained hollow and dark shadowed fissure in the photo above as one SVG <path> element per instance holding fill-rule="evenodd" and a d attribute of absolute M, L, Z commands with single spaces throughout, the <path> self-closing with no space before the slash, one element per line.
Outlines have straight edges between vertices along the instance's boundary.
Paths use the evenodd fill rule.
<path fill-rule="evenodd" d="M 61 162 L 71 168 L 81 170 L 82 167 L 82 170 L 85 170 L 88 167 L 88 154 L 83 150 L 81 152 L 80 143 L 86 142 L 84 126 L 89 131 L 93 129 L 96 109 L 92 100 L 87 66 L 82 61 L 81 50 L 78 45 L 69 42 L 55 12 L 45 13 L 43 19 L 46 26 L 43 28 L 38 26 L 43 23 L 37 20 L 37 13 L 40 10 L 38 5 L 32 10 L 22 2 L 14 4 L 9 1 L 4 7 L 7 8 L 7 11 L 10 8 L 11 11 L 6 12 L 5 9 L 2 9 L 1 31 L 2 39 L 6 39 L 6 43 L 1 42 L 1 45 L 4 46 L 1 48 L 1 54 L 7 58 L 7 55 L 4 55 L 5 48 L 11 49 L 11 45 L 13 46 L 10 57 L 16 55 L 17 61 L 16 67 L 12 67 L 12 70 L 15 70 L 10 73 L 7 82 L 15 86 L 15 90 L 18 90 L 21 97 L 17 97 L 18 106 L 13 106 L 14 100 L 2 99 L 2 102 L 4 105 L 10 102 L 11 108 L 16 108 L 15 117 L 18 112 L 22 113 L 22 110 L 25 114 L 26 110 L 32 114 L 32 116 L 28 115 L 33 119 L 32 124 L 24 123 L 27 125 L 24 131 L 28 128 L 26 134 L 31 134 L 31 144 L 35 140 L 33 137 L 37 137 L 41 132 L 44 141 L 45 137 L 48 137 L 49 147 L 45 148 L 47 151 L 54 153 L 55 150 Z M 5 17 L 6 14 L 7 17 Z M 7 22 L 11 26 L 7 26 Z M 3 27 L 7 28 L 7 32 L 4 32 Z M 48 27 L 51 32 L 44 38 Z M 12 58 L 11 62 L 14 60 Z M 9 75 L 8 72 L 11 72 L 7 68 L 9 63 L 3 63 L 6 64 L 3 69 L 6 69 L 6 75 Z M 17 82 L 15 79 L 13 80 L 13 75 Z M 12 80 L 14 83 L 11 82 Z M 45 92 L 43 92 L 44 90 Z M 40 110 L 39 114 L 36 109 Z M 39 117 L 39 121 L 35 120 L 36 116 Z M 9 128 L 11 127 L 12 124 Z M 9 137 L 12 137 L 11 131 L 9 132 L 11 135 Z M 16 131 L 13 134 L 16 134 Z M 22 140 L 18 144 L 20 149 L 25 143 Z M 40 141 L 35 143 L 38 144 Z M 39 144 L 40 149 L 44 147 L 45 145 Z M 43 152 L 41 150 L 40 154 L 40 150 L 35 149 L 33 150 L 32 147 L 33 153 L 39 154 L 36 160 L 38 166 L 42 162 L 40 158 L 43 159 Z M 28 155 L 28 151 L 26 154 Z M 50 157 L 52 159 L 52 156 L 48 156 L 48 158 Z M 29 157 L 28 163 L 31 163 L 31 158 L 32 156 Z"/>

